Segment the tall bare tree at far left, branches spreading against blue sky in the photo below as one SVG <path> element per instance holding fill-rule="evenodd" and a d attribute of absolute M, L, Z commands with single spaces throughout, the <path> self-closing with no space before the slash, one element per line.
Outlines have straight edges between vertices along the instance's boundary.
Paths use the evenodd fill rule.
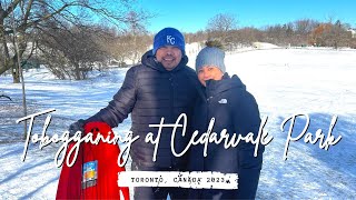
<path fill-rule="evenodd" d="M 87 0 L 1 0 L 0 1 L 0 40 L 2 44 L 2 64 L 0 74 L 12 69 L 13 82 L 19 82 L 17 56 L 21 59 L 31 52 L 34 43 L 34 32 L 38 29 L 46 29 L 48 20 L 60 20 L 76 24 L 77 22 L 90 23 L 98 18 L 120 26 L 126 22 L 126 16 L 134 0 L 121 0 L 116 3 L 105 1 Z M 11 20 L 11 14 L 14 19 Z M 93 17 L 95 16 L 95 17 Z M 13 26 L 12 26 L 13 24 Z M 13 34 L 16 29 L 17 36 Z M 18 51 L 11 51 L 13 41 L 18 42 Z M 30 49 L 30 50 L 29 50 Z M 18 52 L 18 53 L 17 53 Z"/>

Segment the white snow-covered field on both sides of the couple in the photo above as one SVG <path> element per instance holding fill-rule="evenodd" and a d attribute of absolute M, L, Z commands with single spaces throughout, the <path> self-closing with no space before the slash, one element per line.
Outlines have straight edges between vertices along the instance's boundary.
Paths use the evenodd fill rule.
<path fill-rule="evenodd" d="M 196 51 L 191 52 L 194 66 Z M 356 51 L 318 49 L 269 49 L 226 57 L 227 71 L 236 73 L 247 86 L 260 109 L 268 117 L 265 131 L 273 141 L 266 147 L 264 168 L 257 199 L 355 199 L 356 198 Z M 120 88 L 127 69 L 95 72 L 86 81 L 56 80 L 46 70 L 26 72 L 28 113 L 56 109 L 48 134 L 61 134 L 79 118 L 87 118 L 105 107 Z M 0 199 L 55 199 L 60 169 L 53 158 L 58 144 L 38 149 L 30 146 L 26 161 L 21 86 L 11 77 L 0 77 Z M 288 159 L 284 150 L 288 136 L 283 121 L 291 114 L 310 119 L 307 132 L 315 140 L 316 131 L 329 132 L 333 116 L 337 122 L 332 130 L 342 140 L 328 150 L 304 142 L 290 141 Z M 33 132 L 41 133 L 44 117 L 34 121 Z M 293 137 L 306 124 L 298 117 Z M 127 119 L 116 131 L 126 132 Z M 325 141 L 323 141 L 325 143 Z"/>

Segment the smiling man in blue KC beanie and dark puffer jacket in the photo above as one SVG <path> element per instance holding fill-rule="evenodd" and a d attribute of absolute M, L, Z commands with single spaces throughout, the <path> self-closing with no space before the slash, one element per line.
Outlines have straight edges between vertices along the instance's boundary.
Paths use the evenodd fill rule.
<path fill-rule="evenodd" d="M 155 146 L 145 142 L 147 133 L 157 137 L 158 129 L 149 124 L 175 123 L 181 113 L 189 117 L 198 97 L 196 73 L 187 67 L 184 36 L 174 28 L 160 30 L 154 39 L 154 49 L 142 56 L 141 64 L 127 71 L 125 81 L 109 104 L 87 120 L 79 120 L 70 127 L 71 132 L 90 121 L 103 121 L 117 127 L 131 113 L 131 131 L 140 138 L 131 146 L 132 170 L 140 171 L 185 171 L 187 154 L 176 158 L 170 150 L 171 128 L 164 128 L 157 150 L 157 161 L 152 161 Z M 181 130 L 176 134 L 181 136 Z M 191 133 L 187 129 L 186 133 Z M 176 152 L 181 152 L 190 136 L 175 141 Z M 115 159 L 115 158 L 112 158 Z M 179 188 L 135 188 L 135 199 L 184 199 L 186 192 Z"/>

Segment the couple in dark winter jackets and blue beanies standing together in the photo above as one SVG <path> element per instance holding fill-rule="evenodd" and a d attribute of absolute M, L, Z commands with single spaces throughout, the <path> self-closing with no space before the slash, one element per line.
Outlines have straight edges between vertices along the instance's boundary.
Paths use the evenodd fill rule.
<path fill-rule="evenodd" d="M 87 120 L 70 126 L 70 132 L 82 130 L 85 123 L 103 121 L 111 128 L 121 123 L 131 113 L 131 131 L 140 139 L 132 143 L 131 169 L 137 171 L 218 171 L 238 173 L 238 189 L 181 189 L 135 188 L 135 199 L 254 199 L 263 164 L 264 148 L 254 157 L 255 146 L 240 142 L 236 148 L 209 144 L 207 157 L 204 146 L 194 146 L 182 157 L 170 150 L 171 130 L 162 129 L 152 161 L 155 146 L 142 138 L 156 132 L 161 118 L 165 123 L 175 123 L 181 113 L 188 117 L 185 137 L 175 141 L 176 152 L 181 152 L 195 130 L 207 131 L 215 118 L 211 132 L 257 136 L 260 124 L 255 98 L 246 91 L 237 76 L 229 77 L 224 63 L 225 52 L 216 47 L 206 47 L 197 56 L 196 71 L 187 67 L 184 36 L 174 28 L 160 30 L 154 39 L 154 49 L 141 58 L 141 64 L 127 71 L 125 81 L 109 104 Z M 179 132 L 180 131 L 180 132 Z M 176 134 L 180 136 L 181 130 Z"/>

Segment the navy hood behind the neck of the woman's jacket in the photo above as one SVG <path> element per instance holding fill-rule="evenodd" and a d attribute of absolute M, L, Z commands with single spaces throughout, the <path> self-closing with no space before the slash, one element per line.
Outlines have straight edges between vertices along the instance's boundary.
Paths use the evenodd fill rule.
<path fill-rule="evenodd" d="M 246 86 L 236 74 L 230 77 L 227 72 L 224 73 L 221 80 L 208 80 L 206 81 L 206 91 L 208 97 L 230 89 L 246 90 Z"/>

